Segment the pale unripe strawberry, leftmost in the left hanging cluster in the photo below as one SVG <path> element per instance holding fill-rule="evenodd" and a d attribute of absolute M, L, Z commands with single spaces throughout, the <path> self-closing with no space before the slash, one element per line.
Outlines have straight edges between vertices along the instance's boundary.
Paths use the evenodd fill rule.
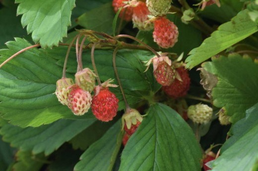
<path fill-rule="evenodd" d="M 57 81 L 57 89 L 55 94 L 58 98 L 58 101 L 60 101 L 61 104 L 67 105 L 67 98 L 68 98 L 67 87 L 73 84 L 74 84 L 73 80 L 68 78 L 63 78 Z"/>

